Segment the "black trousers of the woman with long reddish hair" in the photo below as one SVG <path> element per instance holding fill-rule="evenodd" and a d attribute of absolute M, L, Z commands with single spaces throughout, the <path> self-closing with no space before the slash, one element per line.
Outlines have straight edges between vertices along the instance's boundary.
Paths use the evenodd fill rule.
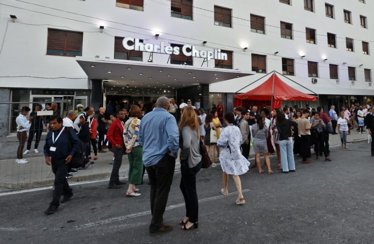
<path fill-rule="evenodd" d="M 196 192 L 196 174 L 201 169 L 202 162 L 193 168 L 188 167 L 187 161 L 181 161 L 181 184 L 179 188 L 182 191 L 186 204 L 186 217 L 189 222 L 196 223 L 198 221 L 198 200 Z"/>

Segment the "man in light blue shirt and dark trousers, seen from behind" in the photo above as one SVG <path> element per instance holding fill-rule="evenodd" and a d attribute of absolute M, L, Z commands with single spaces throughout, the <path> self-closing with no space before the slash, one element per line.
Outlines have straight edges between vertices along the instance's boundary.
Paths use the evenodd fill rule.
<path fill-rule="evenodd" d="M 152 221 L 150 235 L 169 232 L 172 226 L 163 224 L 163 215 L 173 182 L 179 149 L 177 121 L 168 112 L 170 101 L 159 97 L 156 108 L 140 123 L 139 143 L 143 145 L 143 162 L 151 184 Z"/>

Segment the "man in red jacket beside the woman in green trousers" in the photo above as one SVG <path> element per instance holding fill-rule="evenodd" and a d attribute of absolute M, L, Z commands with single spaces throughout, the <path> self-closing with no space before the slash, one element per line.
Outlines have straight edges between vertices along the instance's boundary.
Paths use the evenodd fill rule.
<path fill-rule="evenodd" d="M 114 160 L 112 174 L 109 180 L 109 189 L 121 188 L 121 185 L 125 185 L 126 182 L 120 181 L 119 171 L 122 165 L 123 148 L 125 146 L 123 133 L 124 133 L 124 122 L 126 113 L 123 109 L 117 111 L 117 118 L 110 125 L 107 132 L 107 139 L 113 146 Z"/>

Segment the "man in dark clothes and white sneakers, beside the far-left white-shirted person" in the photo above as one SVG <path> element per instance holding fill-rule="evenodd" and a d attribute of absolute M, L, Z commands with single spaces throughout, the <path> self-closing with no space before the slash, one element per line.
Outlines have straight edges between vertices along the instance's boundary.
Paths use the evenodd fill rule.
<path fill-rule="evenodd" d="M 27 139 L 27 148 L 26 151 L 24 151 L 23 154 L 27 154 L 31 150 L 31 142 L 35 135 L 35 145 L 34 145 L 34 152 L 39 153 L 38 146 L 39 141 L 41 137 L 41 133 L 43 132 L 43 120 L 41 119 L 41 116 L 36 115 L 37 111 L 41 110 L 41 105 L 36 104 L 35 105 L 35 111 L 30 113 L 30 117 L 34 118 L 31 121 L 30 131 L 28 133 L 28 139 Z"/>

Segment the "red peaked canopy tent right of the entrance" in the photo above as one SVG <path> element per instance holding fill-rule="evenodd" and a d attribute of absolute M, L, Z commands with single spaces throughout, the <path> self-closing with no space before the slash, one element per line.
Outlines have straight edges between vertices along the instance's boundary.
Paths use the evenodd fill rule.
<path fill-rule="evenodd" d="M 234 107 L 242 106 L 243 100 L 271 101 L 271 109 L 279 108 L 282 101 L 317 101 L 317 96 L 309 95 L 292 88 L 283 82 L 275 72 L 272 73 L 264 83 L 253 90 L 235 95 Z M 288 77 L 286 78 L 289 79 Z"/>

